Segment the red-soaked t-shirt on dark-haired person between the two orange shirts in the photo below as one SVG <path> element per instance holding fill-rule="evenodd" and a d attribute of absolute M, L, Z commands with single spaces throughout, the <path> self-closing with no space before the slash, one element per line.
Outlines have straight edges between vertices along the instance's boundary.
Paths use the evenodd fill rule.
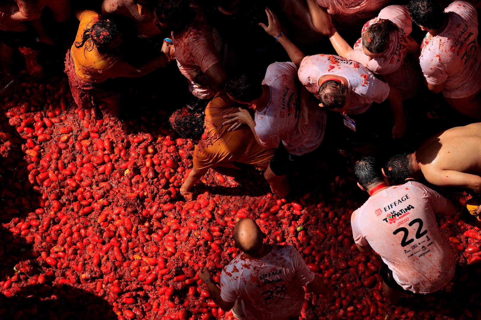
<path fill-rule="evenodd" d="M 191 9 L 197 12 L 194 21 L 180 34 L 172 32 L 174 52 L 180 72 L 189 81 L 190 92 L 200 99 L 215 95 L 209 86 L 201 86 L 190 79 L 190 72 L 204 72 L 218 62 L 223 63 L 225 47 L 215 28 L 206 23 L 201 9 L 191 4 Z"/>

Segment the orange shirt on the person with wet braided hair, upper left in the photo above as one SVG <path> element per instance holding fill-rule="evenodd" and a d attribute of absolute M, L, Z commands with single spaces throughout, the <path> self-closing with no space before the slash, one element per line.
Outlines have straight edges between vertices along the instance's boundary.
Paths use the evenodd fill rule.
<path fill-rule="evenodd" d="M 95 11 L 82 12 L 77 36 L 70 49 L 76 74 L 88 83 L 101 83 L 109 78 L 122 77 L 127 74 L 128 70 L 128 64 L 120 57 L 110 53 L 100 53 L 90 39 L 82 47 L 75 46 L 77 42 L 82 43 L 85 29 L 90 28 L 101 19 L 101 15 Z"/>

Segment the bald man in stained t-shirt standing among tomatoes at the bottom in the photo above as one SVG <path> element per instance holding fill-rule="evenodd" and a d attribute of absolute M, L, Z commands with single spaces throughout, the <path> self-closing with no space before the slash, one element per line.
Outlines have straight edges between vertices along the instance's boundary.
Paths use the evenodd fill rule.
<path fill-rule="evenodd" d="M 332 290 L 305 264 L 292 246 L 264 244 L 266 237 L 252 219 L 241 219 L 234 227 L 234 243 L 241 254 L 222 270 L 220 288 L 207 268 L 199 270 L 214 302 L 232 309 L 239 320 L 299 319 L 304 288 L 332 299 Z"/>

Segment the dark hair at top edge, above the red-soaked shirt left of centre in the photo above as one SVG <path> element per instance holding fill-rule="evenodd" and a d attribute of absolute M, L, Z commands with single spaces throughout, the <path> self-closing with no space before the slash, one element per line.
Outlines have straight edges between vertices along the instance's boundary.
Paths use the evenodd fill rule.
<path fill-rule="evenodd" d="M 159 0 L 153 8 L 155 20 L 174 32 L 182 31 L 194 19 L 188 0 Z"/>

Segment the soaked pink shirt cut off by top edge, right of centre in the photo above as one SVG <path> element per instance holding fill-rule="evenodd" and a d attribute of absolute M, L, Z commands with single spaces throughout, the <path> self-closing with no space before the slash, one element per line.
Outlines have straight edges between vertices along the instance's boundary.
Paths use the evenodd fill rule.
<path fill-rule="evenodd" d="M 358 15 L 367 12 L 377 12 L 390 0 L 316 0 L 317 4 L 326 8 L 338 23 L 349 26 L 354 25 L 362 18 Z M 371 15 L 371 17 L 374 16 Z M 364 20 L 366 21 L 366 20 Z"/>

